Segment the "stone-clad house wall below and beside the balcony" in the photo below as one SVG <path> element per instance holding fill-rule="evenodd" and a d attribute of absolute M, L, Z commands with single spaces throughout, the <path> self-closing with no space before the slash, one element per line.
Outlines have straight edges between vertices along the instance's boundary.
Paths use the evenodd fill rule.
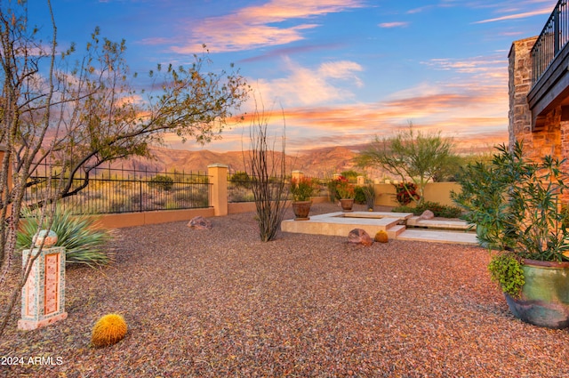
<path fill-rule="evenodd" d="M 569 157 L 569 120 L 562 120 L 561 106 L 551 109 L 545 123 L 532 130 L 527 94 L 532 89 L 531 50 L 536 39 L 515 41 L 509 50 L 509 146 L 523 141 L 529 157 Z"/>

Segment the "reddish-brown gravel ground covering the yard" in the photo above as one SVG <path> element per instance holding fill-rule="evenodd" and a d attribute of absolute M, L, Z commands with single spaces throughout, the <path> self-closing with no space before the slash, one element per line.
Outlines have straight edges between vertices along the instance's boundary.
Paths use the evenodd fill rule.
<path fill-rule="evenodd" d="M 253 213 L 212 223 L 119 229 L 113 265 L 68 269 L 68 319 L 24 333 L 15 314 L 0 341 L 4 364 L 54 365 L 4 365 L 0 376 L 569 376 L 567 331 L 513 318 L 485 249 L 288 233 L 262 243 Z M 92 348 L 109 312 L 128 334 Z"/>

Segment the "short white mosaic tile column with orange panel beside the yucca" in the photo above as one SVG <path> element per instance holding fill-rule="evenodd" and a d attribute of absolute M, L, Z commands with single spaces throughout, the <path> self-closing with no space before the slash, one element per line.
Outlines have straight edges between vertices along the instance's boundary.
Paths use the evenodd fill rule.
<path fill-rule="evenodd" d="M 22 261 L 29 253 L 39 249 L 26 249 Z M 26 285 L 21 290 L 21 319 L 18 328 L 29 331 L 49 326 L 68 317 L 65 312 L 65 248 L 44 248 L 34 261 Z"/>

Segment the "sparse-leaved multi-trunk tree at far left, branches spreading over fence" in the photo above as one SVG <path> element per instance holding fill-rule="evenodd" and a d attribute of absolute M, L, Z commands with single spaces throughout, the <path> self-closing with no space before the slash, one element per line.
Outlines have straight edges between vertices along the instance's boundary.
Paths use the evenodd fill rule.
<path fill-rule="evenodd" d="M 28 9 L 26 1 L 0 3 L 3 290 L 13 265 L 20 209 L 30 186 L 46 193 L 35 205 L 53 204 L 84 189 L 89 173 L 102 163 L 148 156 L 148 146 L 163 141 L 164 133 L 202 143 L 218 138 L 249 92 L 238 71 L 207 72 L 206 50 L 195 55 L 189 67 L 158 66 L 148 80 L 129 71 L 125 42 L 102 38 L 99 29 L 83 52 L 74 44 L 59 51 L 51 2 L 44 6 L 52 15 L 50 24 L 35 28 L 28 25 L 33 9 Z M 40 169 L 49 171 L 52 179 L 33 181 Z M 76 180 L 80 172 L 83 179 Z M 45 190 L 46 186 L 51 188 Z M 28 270 L 23 272 L 3 309 L 0 335 Z"/>

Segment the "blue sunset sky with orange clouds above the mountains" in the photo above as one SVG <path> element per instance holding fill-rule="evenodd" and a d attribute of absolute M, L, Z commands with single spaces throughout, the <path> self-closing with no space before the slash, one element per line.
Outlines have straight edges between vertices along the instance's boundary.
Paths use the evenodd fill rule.
<path fill-rule="evenodd" d="M 554 0 L 54 0 L 61 45 L 93 28 L 124 38 L 132 70 L 188 64 L 207 44 L 262 97 L 287 151 L 352 145 L 413 122 L 462 146 L 507 141 L 508 52 L 538 35 Z M 29 15 L 41 24 L 43 2 Z M 274 110 L 274 116 L 271 111 Z M 240 150 L 248 124 L 204 148 Z"/>

